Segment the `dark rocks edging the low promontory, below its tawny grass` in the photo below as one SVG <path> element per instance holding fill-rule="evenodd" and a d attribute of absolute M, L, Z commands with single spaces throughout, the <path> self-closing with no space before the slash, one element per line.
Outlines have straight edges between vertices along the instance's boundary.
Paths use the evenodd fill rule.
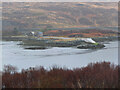
<path fill-rule="evenodd" d="M 25 49 L 48 49 L 48 47 L 76 47 L 78 49 L 100 49 L 105 46 L 100 43 L 88 43 L 84 41 L 54 42 L 48 40 L 24 40 L 21 45 L 29 46 Z M 34 47 L 31 47 L 34 46 Z"/>

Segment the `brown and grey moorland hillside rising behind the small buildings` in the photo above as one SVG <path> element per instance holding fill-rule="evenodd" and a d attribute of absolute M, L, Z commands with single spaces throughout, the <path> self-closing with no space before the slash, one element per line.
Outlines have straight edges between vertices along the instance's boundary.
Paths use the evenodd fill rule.
<path fill-rule="evenodd" d="M 117 3 L 3 3 L 3 30 L 117 26 Z"/>

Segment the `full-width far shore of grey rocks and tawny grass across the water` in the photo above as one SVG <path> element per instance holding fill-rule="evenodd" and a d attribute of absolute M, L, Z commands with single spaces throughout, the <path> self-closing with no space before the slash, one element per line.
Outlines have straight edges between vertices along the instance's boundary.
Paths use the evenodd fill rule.
<path fill-rule="evenodd" d="M 64 37 L 27 37 L 27 36 L 3 36 L 3 41 L 22 41 L 20 45 L 22 46 L 39 46 L 39 47 L 27 47 L 25 49 L 48 49 L 48 47 L 76 47 L 78 49 L 100 49 L 104 48 L 104 44 L 101 42 L 105 41 L 115 41 L 118 40 L 118 37 L 95 37 L 91 40 L 95 43 L 82 41 L 81 38 L 65 38 Z"/>

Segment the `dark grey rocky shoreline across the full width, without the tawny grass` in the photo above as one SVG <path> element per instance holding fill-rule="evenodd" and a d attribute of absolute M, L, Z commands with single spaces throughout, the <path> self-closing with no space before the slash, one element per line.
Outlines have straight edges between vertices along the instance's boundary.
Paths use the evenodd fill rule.
<path fill-rule="evenodd" d="M 48 47 L 76 47 L 78 49 L 101 49 L 104 48 L 105 45 L 101 44 L 101 42 L 105 41 L 115 41 L 118 40 L 118 37 L 101 37 L 101 38 L 92 38 L 96 43 L 84 42 L 81 40 L 73 40 L 73 41 L 54 41 L 54 40 L 45 40 L 45 39 L 36 39 L 36 38 L 28 38 L 28 37 L 3 37 L 3 40 L 6 41 L 22 41 L 19 45 L 28 46 L 24 49 L 31 50 L 43 50 L 48 49 Z M 34 46 L 34 47 L 31 47 Z M 37 47 L 36 47 L 37 46 Z"/>

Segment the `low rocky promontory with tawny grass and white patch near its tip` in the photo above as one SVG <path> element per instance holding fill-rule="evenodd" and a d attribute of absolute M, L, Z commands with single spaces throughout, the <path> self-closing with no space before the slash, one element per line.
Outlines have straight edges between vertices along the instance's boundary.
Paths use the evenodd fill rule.
<path fill-rule="evenodd" d="M 43 37 L 40 39 L 29 38 L 23 40 L 21 45 L 29 46 L 28 48 L 25 49 L 33 50 L 48 49 L 48 47 L 76 47 L 78 49 L 100 49 L 105 47 L 103 44 L 97 43 L 91 38 L 64 38 L 64 37 Z"/>

